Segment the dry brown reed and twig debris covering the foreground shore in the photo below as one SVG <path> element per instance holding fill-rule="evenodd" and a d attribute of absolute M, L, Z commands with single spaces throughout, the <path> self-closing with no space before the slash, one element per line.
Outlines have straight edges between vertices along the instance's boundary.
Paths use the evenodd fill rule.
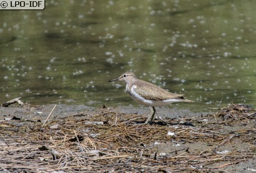
<path fill-rule="evenodd" d="M 256 110 L 249 106 L 140 124 L 146 118 L 104 106 L 44 127 L 39 121 L 3 120 L 0 171 L 225 172 L 256 161 Z"/>

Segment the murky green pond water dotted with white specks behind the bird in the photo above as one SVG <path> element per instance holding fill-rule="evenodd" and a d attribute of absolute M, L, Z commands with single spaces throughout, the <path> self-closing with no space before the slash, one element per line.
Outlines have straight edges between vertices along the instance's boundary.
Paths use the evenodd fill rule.
<path fill-rule="evenodd" d="M 256 1 L 47 1 L 42 11 L 0 11 L 0 102 L 137 105 L 137 77 L 205 111 L 256 105 Z M 172 108 L 170 106 L 170 108 Z"/>

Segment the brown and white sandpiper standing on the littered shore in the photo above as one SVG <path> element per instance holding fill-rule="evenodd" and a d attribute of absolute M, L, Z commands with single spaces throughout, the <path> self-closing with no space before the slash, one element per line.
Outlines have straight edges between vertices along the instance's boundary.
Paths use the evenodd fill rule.
<path fill-rule="evenodd" d="M 163 88 L 144 80 L 139 80 L 133 72 L 125 72 L 120 77 L 109 80 L 109 82 L 122 81 L 126 83 L 126 92 L 140 105 L 149 106 L 150 114 L 144 124 L 152 124 L 155 119 L 155 107 L 170 105 L 175 102 L 193 103 L 184 95 L 171 93 Z"/>

